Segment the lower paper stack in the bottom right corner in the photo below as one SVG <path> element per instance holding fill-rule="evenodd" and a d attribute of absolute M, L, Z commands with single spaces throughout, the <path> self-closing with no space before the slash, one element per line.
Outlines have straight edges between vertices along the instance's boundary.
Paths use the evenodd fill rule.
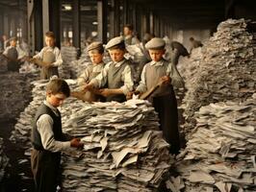
<path fill-rule="evenodd" d="M 243 103 L 210 104 L 176 163 L 172 191 L 256 191 L 256 95 Z M 218 190 L 217 190 L 218 189 Z"/>

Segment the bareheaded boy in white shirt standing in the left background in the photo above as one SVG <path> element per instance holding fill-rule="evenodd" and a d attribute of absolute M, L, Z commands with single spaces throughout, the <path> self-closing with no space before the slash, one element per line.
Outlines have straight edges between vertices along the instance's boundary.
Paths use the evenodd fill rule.
<path fill-rule="evenodd" d="M 40 79 L 49 80 L 50 77 L 59 76 L 58 66 L 63 63 L 61 51 L 55 46 L 55 36 L 53 32 L 45 34 L 45 44 L 38 55 L 34 56 L 31 61 L 35 59 L 42 60 L 45 64 L 41 67 Z"/>

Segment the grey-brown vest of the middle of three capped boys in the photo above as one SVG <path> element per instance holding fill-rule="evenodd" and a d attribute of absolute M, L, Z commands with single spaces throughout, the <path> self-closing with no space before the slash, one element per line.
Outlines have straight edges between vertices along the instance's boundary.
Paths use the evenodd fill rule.
<path fill-rule="evenodd" d="M 125 60 L 120 66 L 115 67 L 115 63 L 110 64 L 110 69 L 108 72 L 108 88 L 120 88 L 124 82 L 122 81 L 122 72 L 124 68 L 128 65 L 129 61 Z M 107 97 L 107 102 L 116 101 L 124 102 L 126 97 L 124 95 L 111 95 Z"/>

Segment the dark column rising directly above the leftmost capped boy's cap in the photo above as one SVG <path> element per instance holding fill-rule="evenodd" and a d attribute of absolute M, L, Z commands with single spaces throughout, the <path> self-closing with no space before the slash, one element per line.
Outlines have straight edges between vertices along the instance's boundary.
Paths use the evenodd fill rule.
<path fill-rule="evenodd" d="M 101 42 L 107 43 L 108 17 L 107 17 L 108 2 L 106 0 L 97 1 L 97 20 L 98 20 L 98 38 Z"/>

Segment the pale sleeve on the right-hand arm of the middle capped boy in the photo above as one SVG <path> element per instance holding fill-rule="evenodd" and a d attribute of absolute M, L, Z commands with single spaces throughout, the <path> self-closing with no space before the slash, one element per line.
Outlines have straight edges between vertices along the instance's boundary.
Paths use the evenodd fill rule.
<path fill-rule="evenodd" d="M 120 87 L 123 91 L 123 94 L 126 95 L 128 92 L 133 90 L 134 81 L 132 77 L 132 70 L 129 65 L 126 65 L 123 69 L 121 79 L 123 81 L 123 85 Z"/>

